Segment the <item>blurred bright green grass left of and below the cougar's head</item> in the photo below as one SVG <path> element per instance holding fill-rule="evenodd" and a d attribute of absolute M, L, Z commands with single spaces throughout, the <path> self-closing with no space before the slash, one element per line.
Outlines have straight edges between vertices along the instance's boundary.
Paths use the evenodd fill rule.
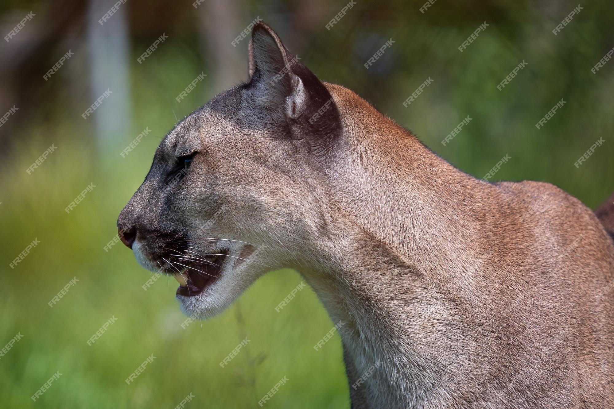
<path fill-rule="evenodd" d="M 174 66 L 170 58 L 165 67 Z M 175 89 L 194 77 L 185 75 L 176 77 Z M 289 381 L 268 407 L 347 407 L 340 340 L 313 349 L 333 327 L 316 295 L 307 287 L 279 313 L 274 310 L 301 282 L 295 271 L 265 276 L 221 316 L 182 329 L 186 317 L 174 300 L 177 282 L 161 277 L 146 291 L 142 286 L 151 274 L 139 267 L 132 252 L 121 243 L 104 251 L 117 233 L 117 214 L 175 122 L 166 101 L 147 95 L 149 87 L 138 80 L 133 86 L 144 91 L 137 98 L 147 103 L 134 102 L 141 107 L 134 120 L 139 125 L 111 153 L 97 155 L 95 145 L 81 139 L 70 122 L 38 123 L 26 133 L 28 143 L 17 146 L 11 166 L 2 168 L 0 206 L 8 234 L 1 243 L 6 263 L 0 348 L 17 333 L 23 338 L 0 359 L 1 406 L 175 407 L 192 393 L 191 407 L 258 407 L 258 400 L 285 375 Z M 194 101 L 198 93 L 190 97 L 182 106 L 202 104 Z M 120 157 L 146 126 L 141 124 L 152 124 L 151 136 Z M 25 169 L 50 141 L 57 149 L 28 175 Z M 95 189 L 67 214 L 64 208 L 90 182 Z M 11 270 L 9 263 L 34 238 L 41 243 Z M 72 278 L 79 281 L 53 308 L 47 305 Z M 88 346 L 112 316 L 117 321 Z M 245 337 L 247 346 L 220 367 Z M 156 359 L 126 384 L 150 354 Z M 58 370 L 60 378 L 33 402 L 31 395 Z"/>

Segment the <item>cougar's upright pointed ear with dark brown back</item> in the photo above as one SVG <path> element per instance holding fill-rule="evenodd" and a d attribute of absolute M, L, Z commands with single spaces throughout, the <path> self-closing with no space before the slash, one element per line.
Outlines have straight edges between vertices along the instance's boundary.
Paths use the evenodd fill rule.
<path fill-rule="evenodd" d="M 254 26 L 249 75 L 258 103 L 282 115 L 293 138 L 330 140 L 341 129 L 339 111 L 325 85 L 298 60 L 268 25 Z"/>

